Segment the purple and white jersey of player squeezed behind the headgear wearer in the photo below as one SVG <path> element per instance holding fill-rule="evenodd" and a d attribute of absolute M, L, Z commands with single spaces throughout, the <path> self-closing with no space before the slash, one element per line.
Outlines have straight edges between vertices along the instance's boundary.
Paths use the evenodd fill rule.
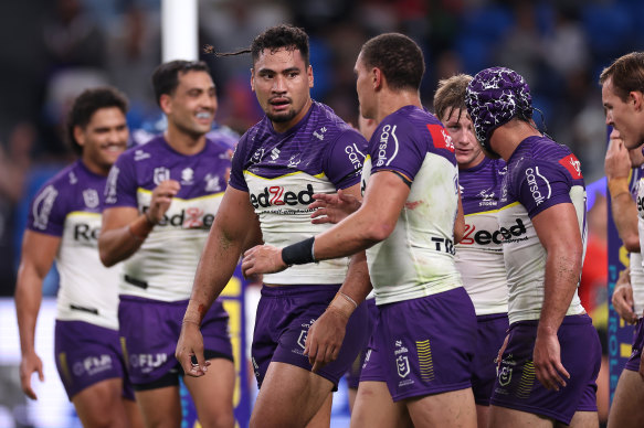
<path fill-rule="evenodd" d="M 456 267 L 477 315 L 508 311 L 503 234 L 497 220 L 500 184 L 506 172 L 503 160 L 489 158 L 458 171 L 465 235 L 456 245 Z"/>

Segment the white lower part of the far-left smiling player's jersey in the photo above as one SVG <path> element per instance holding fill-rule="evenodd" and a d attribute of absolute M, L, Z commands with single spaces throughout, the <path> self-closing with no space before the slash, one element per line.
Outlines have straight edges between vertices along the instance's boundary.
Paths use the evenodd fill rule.
<path fill-rule="evenodd" d="M 122 265 L 106 268 L 98 257 L 101 214 L 71 212 L 65 217 L 56 267 L 61 276 L 56 319 L 85 321 L 117 330 L 115 292 Z M 92 285 L 92 289 L 88 288 Z"/>

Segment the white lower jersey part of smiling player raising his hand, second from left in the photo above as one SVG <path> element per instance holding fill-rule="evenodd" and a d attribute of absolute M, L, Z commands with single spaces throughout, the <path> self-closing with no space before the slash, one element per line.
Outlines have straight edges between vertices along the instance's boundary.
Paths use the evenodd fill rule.
<path fill-rule="evenodd" d="M 150 206 L 151 192 L 138 189 L 139 212 Z M 223 193 L 191 200 L 172 199 L 161 224 L 124 263 L 120 293 L 161 301 L 190 298 L 194 272 Z M 180 266 L 181 268 L 172 268 Z"/>

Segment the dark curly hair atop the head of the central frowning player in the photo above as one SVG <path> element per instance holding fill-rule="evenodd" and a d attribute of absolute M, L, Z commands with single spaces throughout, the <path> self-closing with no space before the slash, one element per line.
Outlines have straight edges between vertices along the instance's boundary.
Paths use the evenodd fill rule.
<path fill-rule="evenodd" d="M 271 53 L 274 53 L 283 47 L 291 51 L 299 51 L 304 58 L 304 64 L 308 67 L 308 34 L 303 29 L 291 24 L 272 26 L 253 40 L 251 44 L 253 65 L 264 50 L 267 49 Z"/>

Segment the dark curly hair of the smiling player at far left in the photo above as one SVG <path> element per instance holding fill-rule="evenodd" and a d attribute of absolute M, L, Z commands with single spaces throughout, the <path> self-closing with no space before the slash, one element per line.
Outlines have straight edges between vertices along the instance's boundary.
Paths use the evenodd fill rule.
<path fill-rule="evenodd" d="M 128 104 L 125 94 L 114 87 L 102 86 L 85 89 L 74 99 L 67 114 L 67 138 L 72 145 L 72 150 L 78 156 L 83 153 L 83 146 L 78 145 L 74 137 L 75 127 L 85 128 L 92 120 L 92 116 L 102 108 L 116 107 L 126 115 Z"/>

